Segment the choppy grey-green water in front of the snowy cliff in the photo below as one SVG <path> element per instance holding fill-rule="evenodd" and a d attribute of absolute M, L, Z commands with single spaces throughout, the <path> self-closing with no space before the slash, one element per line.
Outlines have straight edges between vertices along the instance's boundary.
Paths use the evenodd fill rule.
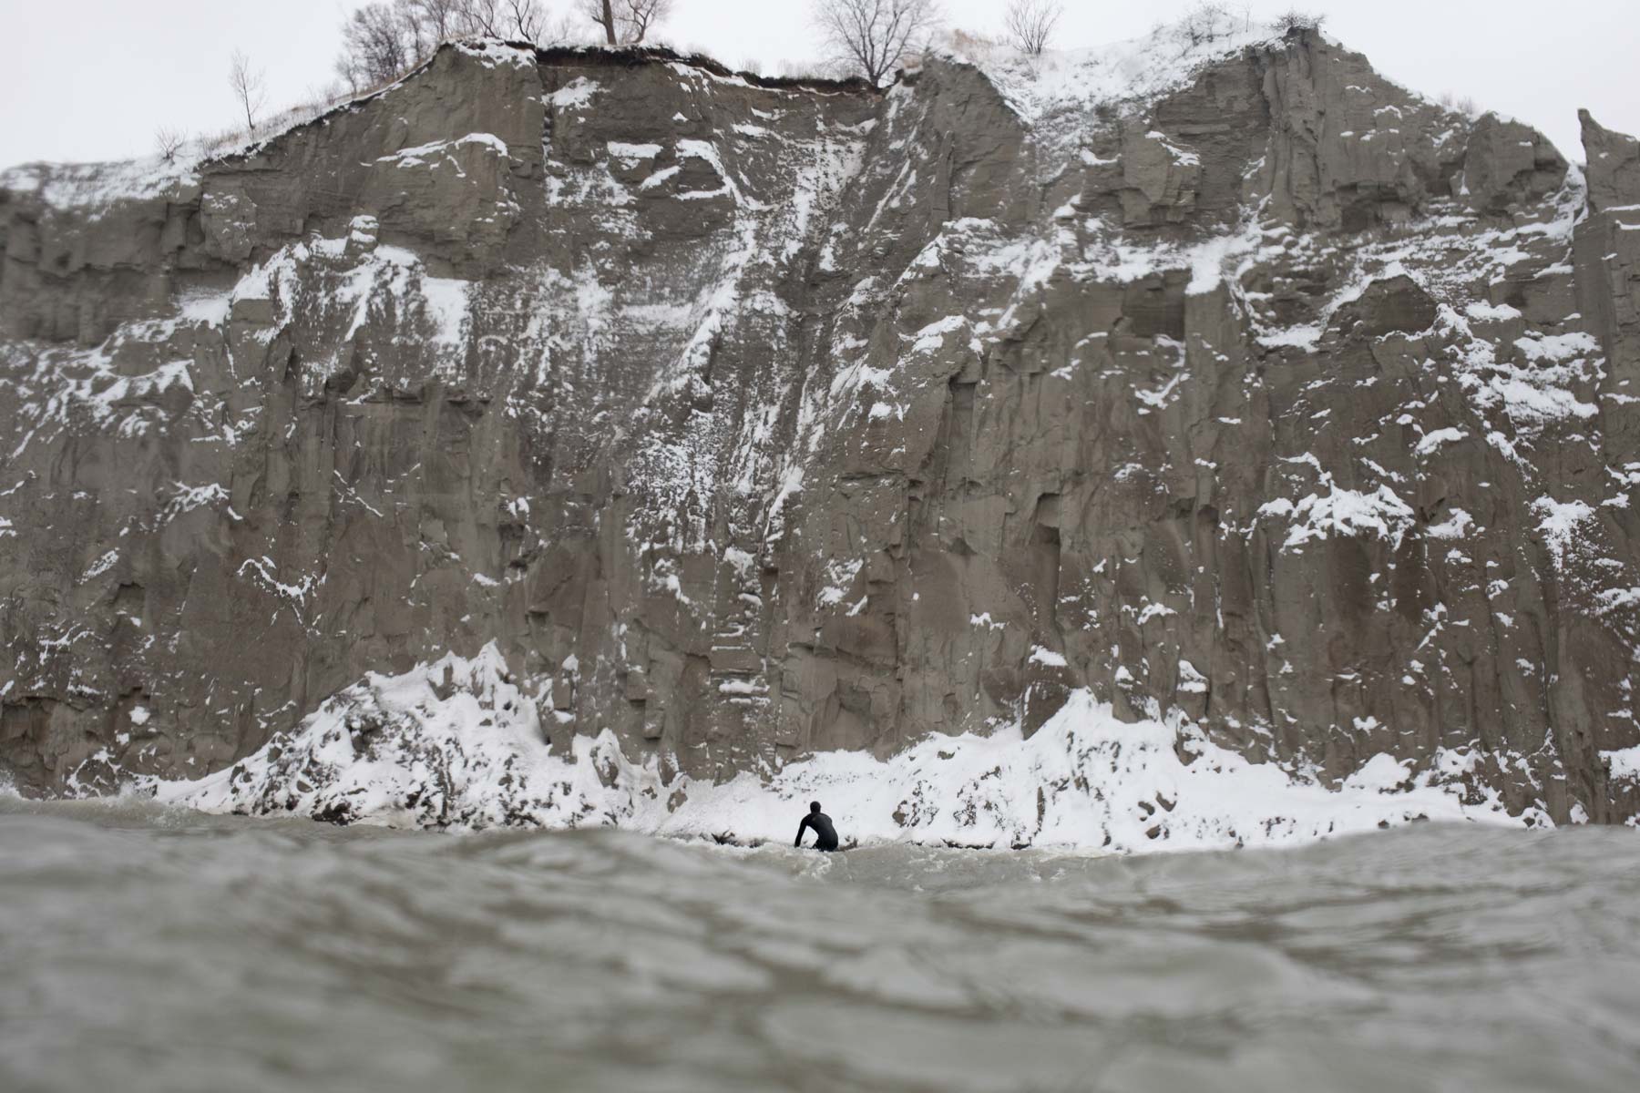
<path fill-rule="evenodd" d="M 1640 836 L 823 857 L 0 801 L 0 1088 L 1640 1088 Z"/>

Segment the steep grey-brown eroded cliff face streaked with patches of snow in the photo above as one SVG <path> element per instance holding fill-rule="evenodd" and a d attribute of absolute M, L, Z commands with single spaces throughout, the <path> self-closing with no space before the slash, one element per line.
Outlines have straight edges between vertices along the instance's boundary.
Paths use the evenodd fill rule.
<path fill-rule="evenodd" d="M 495 642 L 694 778 L 1081 690 L 1640 814 L 1640 151 L 1315 33 L 886 95 L 446 46 L 0 188 L 0 769 L 197 777 Z M 535 723 L 535 721 L 531 721 Z"/>

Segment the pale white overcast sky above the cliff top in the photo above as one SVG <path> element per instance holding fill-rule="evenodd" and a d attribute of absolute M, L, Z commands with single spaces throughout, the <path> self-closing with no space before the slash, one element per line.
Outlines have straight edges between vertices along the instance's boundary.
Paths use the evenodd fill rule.
<path fill-rule="evenodd" d="M 1243 7 L 1245 0 L 1232 0 Z M 0 0 L 0 166 L 153 151 L 154 129 L 233 123 L 228 56 L 267 72 L 271 100 L 317 97 L 331 79 L 349 0 Z M 548 0 L 567 10 L 571 0 Z M 948 23 L 995 31 L 1005 0 L 945 0 Z M 1192 0 L 1068 0 L 1058 46 L 1146 33 Z M 1255 0 L 1256 15 L 1294 0 Z M 1451 90 L 1538 126 L 1581 161 L 1578 107 L 1640 133 L 1640 0 L 1297 0 L 1378 70 L 1435 95 Z M 809 0 L 677 0 L 672 44 L 741 67 L 820 52 Z"/>

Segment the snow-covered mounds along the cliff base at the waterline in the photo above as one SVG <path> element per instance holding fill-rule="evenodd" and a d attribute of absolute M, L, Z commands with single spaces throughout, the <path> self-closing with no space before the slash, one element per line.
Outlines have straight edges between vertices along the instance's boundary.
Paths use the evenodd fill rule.
<path fill-rule="evenodd" d="M 810 800 L 845 839 L 1091 852 L 1278 846 L 1417 819 L 1547 824 L 1465 798 L 1468 759 L 1414 773 L 1389 755 L 1338 788 L 1253 764 L 1189 723 L 1122 723 L 1087 692 L 1030 739 L 935 736 L 887 760 L 827 752 L 723 785 L 630 762 L 613 734 L 551 751 L 531 693 L 494 646 L 369 675 L 243 762 L 197 782 L 146 782 L 169 805 L 399 828 L 626 829 L 735 842 L 790 839 Z"/>

